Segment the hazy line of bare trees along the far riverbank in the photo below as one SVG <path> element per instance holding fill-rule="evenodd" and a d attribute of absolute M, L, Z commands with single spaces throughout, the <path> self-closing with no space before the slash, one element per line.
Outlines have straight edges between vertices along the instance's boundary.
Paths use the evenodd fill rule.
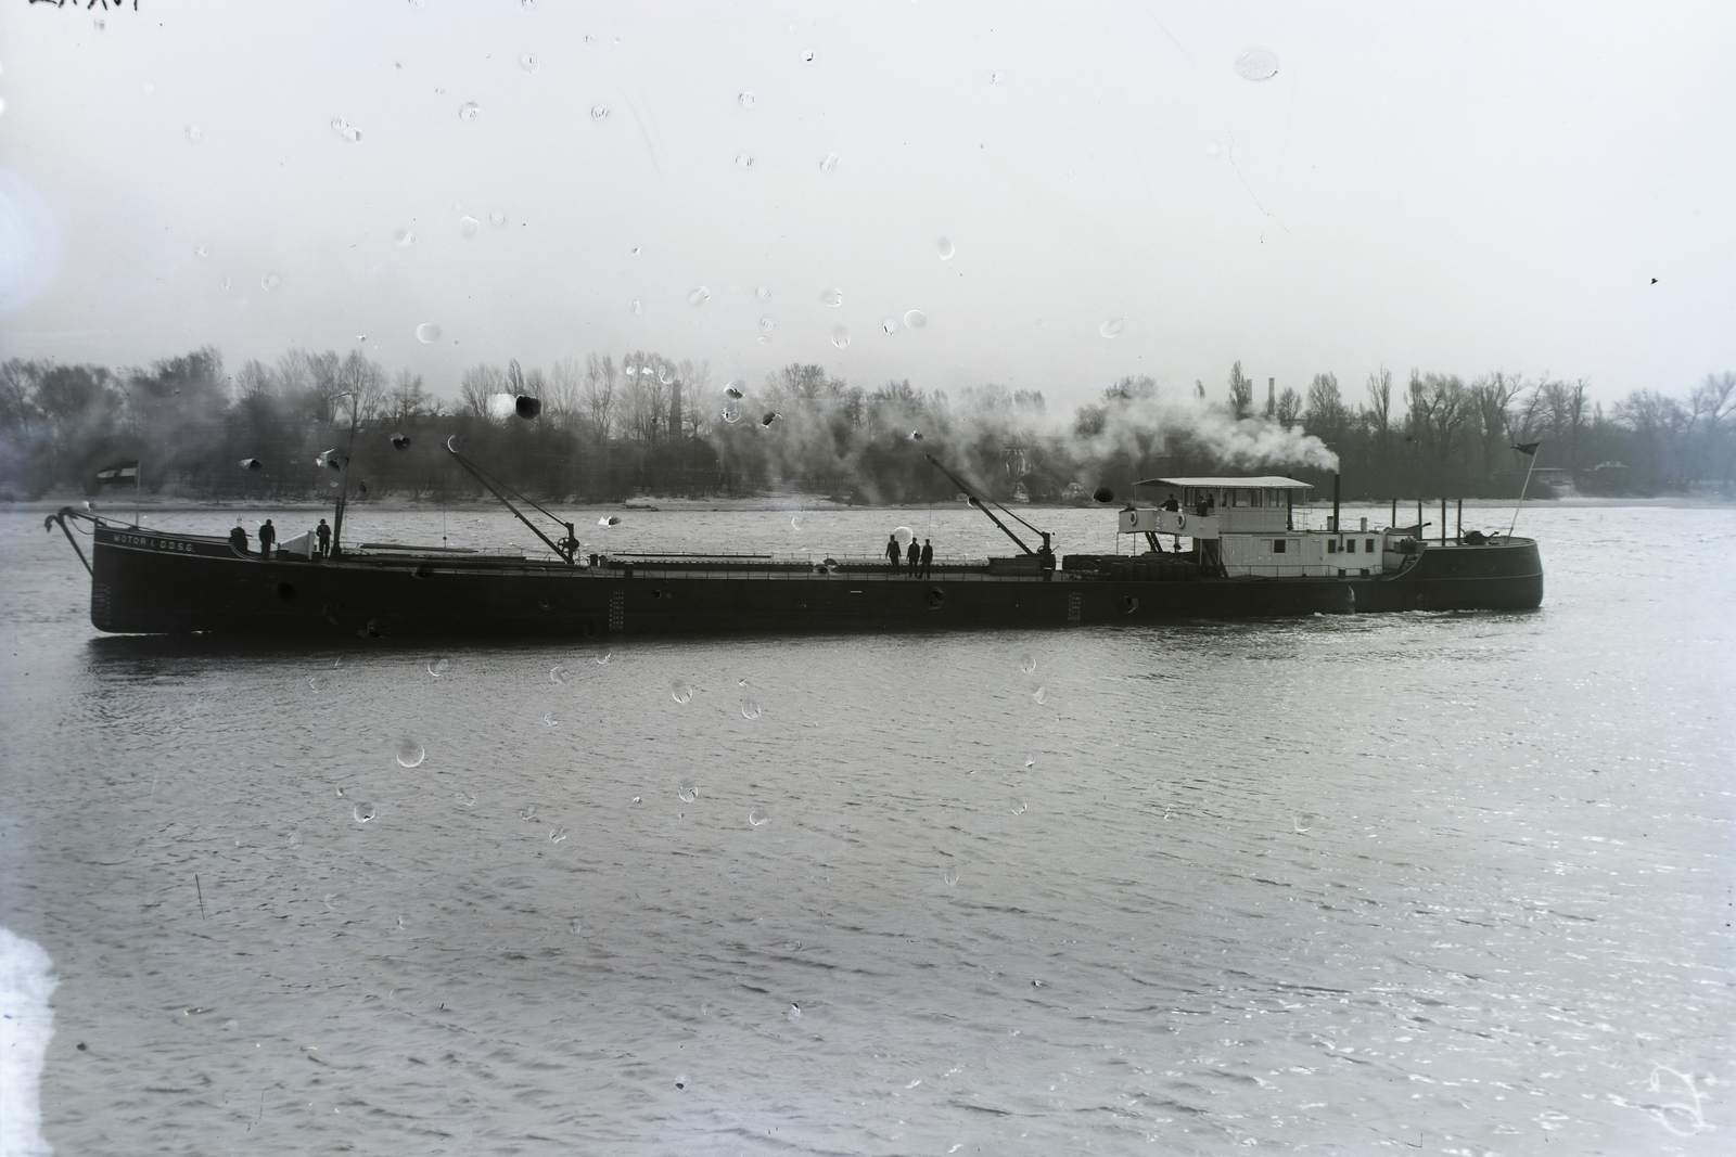
<path fill-rule="evenodd" d="M 496 413 L 500 395 L 517 394 L 542 401 L 536 422 Z M 1255 465 L 1323 480 L 1333 454 L 1352 496 L 1509 496 L 1529 465 L 1512 448 L 1529 442 L 1542 442 L 1545 486 L 1729 494 L 1736 480 L 1731 373 L 1680 395 L 1634 390 L 1606 409 L 1583 380 L 1411 371 L 1397 382 L 1385 368 L 1356 395 L 1319 373 L 1300 390 L 1269 383 L 1262 397 L 1236 363 L 1220 399 L 1203 382 L 1163 390 L 1123 378 L 1068 416 L 1035 390 L 865 389 L 812 364 L 752 387 L 719 383 L 703 361 L 649 350 L 562 357 L 547 369 L 477 364 L 450 401 L 361 350 L 292 349 L 233 376 L 215 349 L 130 369 L 12 359 L 0 364 L 0 498 L 95 491 L 99 472 L 130 460 L 142 463 L 144 489 L 323 496 L 335 480 L 314 460 L 347 446 L 352 415 L 352 477 L 370 494 L 431 500 L 477 493 L 441 451 L 453 434 L 512 486 L 571 500 L 773 487 L 852 501 L 951 498 L 929 451 L 998 498 L 1033 501 Z"/>

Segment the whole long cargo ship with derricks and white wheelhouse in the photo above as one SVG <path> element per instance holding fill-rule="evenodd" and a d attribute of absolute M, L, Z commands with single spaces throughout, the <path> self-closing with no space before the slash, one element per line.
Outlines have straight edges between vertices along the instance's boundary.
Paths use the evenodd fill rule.
<path fill-rule="evenodd" d="M 1524 611 L 1543 600 L 1536 543 L 1427 524 L 1325 526 L 1288 477 L 1167 477 L 1113 508 L 1115 553 L 1057 559 L 1050 534 L 929 456 L 1017 546 L 988 559 L 790 559 L 582 553 L 571 522 L 446 446 L 547 546 L 502 553 L 394 543 L 321 552 L 311 536 L 259 553 L 61 508 L 90 572 L 90 623 L 113 633 L 297 637 L 627 637 L 727 631 L 904 631 L 1104 626 L 1193 618 Z M 1141 505 L 1141 493 L 1149 494 Z M 1158 498 L 1161 494 L 1161 498 Z M 512 500 L 542 513 L 550 529 Z M 1097 493 L 1111 512 L 1115 496 Z M 1396 519 L 1394 519 L 1396 520 Z M 1019 529 L 1014 529 L 1017 526 Z M 1023 531 L 1023 533 L 1021 533 Z M 80 539 L 89 539 L 85 557 Z M 1121 546 L 1127 546 L 1123 552 Z"/>

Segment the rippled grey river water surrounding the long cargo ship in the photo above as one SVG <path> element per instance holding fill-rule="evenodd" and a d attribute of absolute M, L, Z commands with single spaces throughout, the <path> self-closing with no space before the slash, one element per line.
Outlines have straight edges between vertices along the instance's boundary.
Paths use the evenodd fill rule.
<path fill-rule="evenodd" d="M 585 536 L 995 548 L 962 508 L 616 513 Z M 1106 512 L 1036 513 L 1109 546 Z M 3 513 L 40 1134 L 1731 1152 L 1736 512 L 1521 531 L 1529 614 L 441 650 L 99 637 L 64 539 Z"/>

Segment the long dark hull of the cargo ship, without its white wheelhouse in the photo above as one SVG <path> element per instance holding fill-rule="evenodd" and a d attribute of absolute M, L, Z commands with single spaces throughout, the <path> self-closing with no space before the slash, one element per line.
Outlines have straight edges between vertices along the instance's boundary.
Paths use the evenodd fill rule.
<path fill-rule="evenodd" d="M 1524 611 L 1543 600 L 1536 543 L 1521 538 L 1422 546 L 1397 572 L 1368 578 L 1220 578 L 1174 553 L 1073 555 L 1059 571 L 1033 562 L 915 578 L 741 557 L 587 567 L 401 548 L 262 559 L 222 538 L 94 520 L 90 621 L 118 633 L 620 637 Z"/>

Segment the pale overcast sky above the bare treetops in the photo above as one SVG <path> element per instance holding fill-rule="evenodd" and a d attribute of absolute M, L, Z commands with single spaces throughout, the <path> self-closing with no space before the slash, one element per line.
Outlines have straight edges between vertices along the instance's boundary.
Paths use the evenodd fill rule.
<path fill-rule="evenodd" d="M 1680 392 L 1736 369 L 1731 45 L 1731 3 L 7 0 L 0 354 Z"/>

